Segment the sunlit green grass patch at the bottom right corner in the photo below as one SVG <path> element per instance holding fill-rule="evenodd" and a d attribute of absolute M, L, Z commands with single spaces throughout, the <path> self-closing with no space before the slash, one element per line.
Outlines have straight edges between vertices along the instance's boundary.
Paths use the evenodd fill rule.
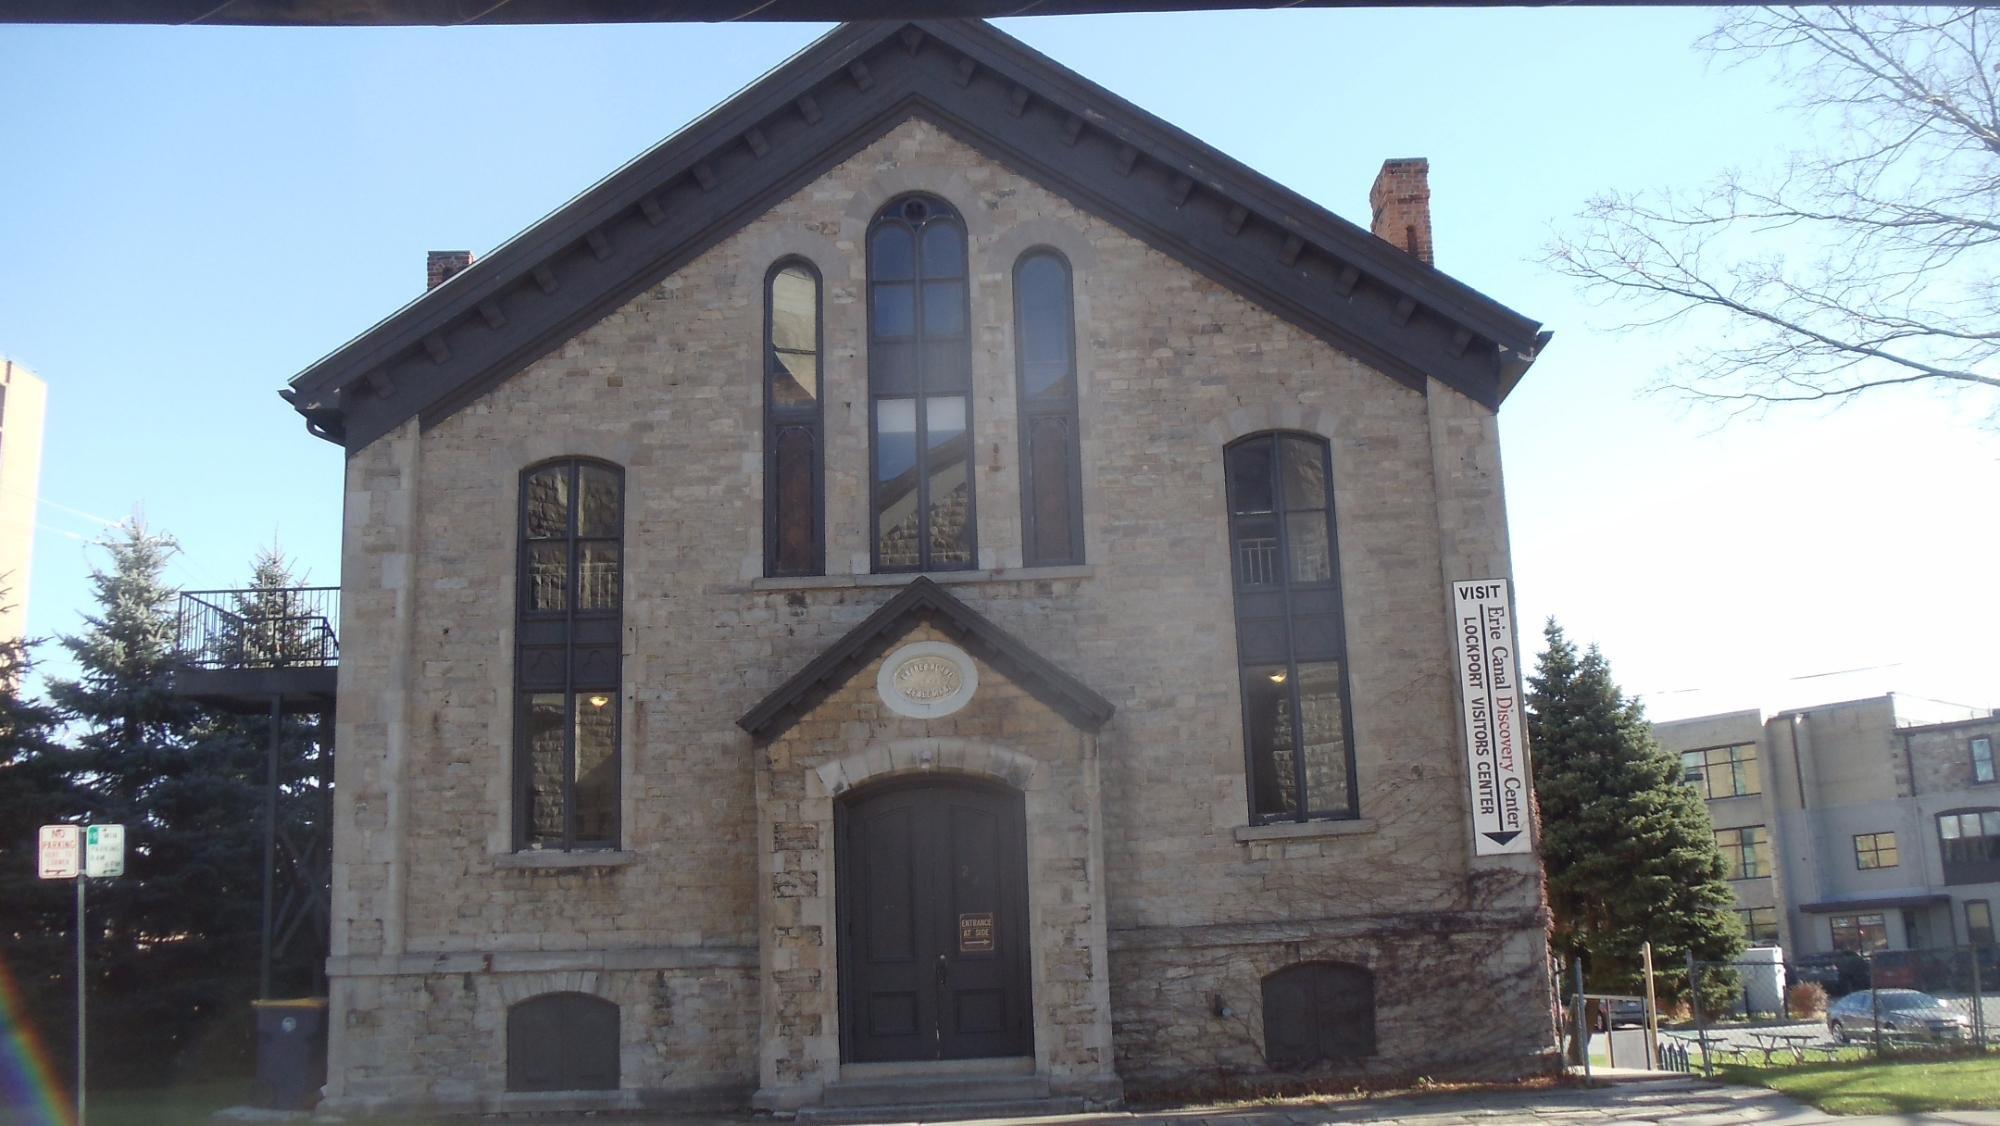
<path fill-rule="evenodd" d="M 2000 1066 L 1992 1058 L 1842 1060 L 1780 1068 L 1730 1064 L 1722 1082 L 1768 1086 L 1828 1114 L 1918 1114 L 2000 1106 Z"/>

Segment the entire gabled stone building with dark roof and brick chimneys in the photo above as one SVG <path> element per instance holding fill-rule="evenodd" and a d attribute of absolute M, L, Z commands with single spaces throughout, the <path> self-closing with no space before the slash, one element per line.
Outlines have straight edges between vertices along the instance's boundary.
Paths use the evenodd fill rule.
<path fill-rule="evenodd" d="M 1546 336 L 1424 176 L 1376 238 L 846 26 L 434 260 L 288 392 L 348 450 L 326 1106 L 1550 1066 L 1448 590 Z"/>

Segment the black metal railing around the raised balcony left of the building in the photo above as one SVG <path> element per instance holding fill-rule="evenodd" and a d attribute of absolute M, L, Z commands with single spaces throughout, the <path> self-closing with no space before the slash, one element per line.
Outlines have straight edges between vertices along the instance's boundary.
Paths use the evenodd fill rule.
<path fill-rule="evenodd" d="M 184 590 L 174 648 L 194 668 L 328 668 L 338 620 L 338 586 Z"/>

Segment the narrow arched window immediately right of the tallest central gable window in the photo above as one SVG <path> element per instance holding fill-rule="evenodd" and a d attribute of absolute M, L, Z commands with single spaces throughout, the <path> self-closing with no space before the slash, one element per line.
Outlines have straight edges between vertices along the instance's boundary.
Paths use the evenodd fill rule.
<path fill-rule="evenodd" d="M 1026 566 L 1084 562 L 1076 436 L 1076 314 L 1070 264 L 1038 248 L 1014 264 L 1014 386 L 1020 396 L 1020 528 Z"/>

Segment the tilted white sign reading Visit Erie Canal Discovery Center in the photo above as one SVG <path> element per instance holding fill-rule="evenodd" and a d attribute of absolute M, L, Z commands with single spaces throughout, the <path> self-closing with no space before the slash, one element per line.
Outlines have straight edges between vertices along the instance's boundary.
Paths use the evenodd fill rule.
<path fill-rule="evenodd" d="M 1452 584 L 1458 698 L 1466 708 L 1472 854 L 1530 852 L 1534 778 L 1520 726 L 1520 662 L 1504 578 Z"/>

